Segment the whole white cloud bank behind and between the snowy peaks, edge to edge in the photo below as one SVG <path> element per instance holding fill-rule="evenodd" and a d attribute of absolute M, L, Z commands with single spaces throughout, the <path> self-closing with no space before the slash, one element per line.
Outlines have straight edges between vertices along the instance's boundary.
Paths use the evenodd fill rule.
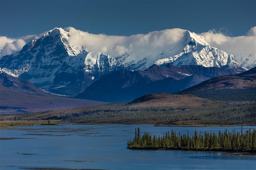
<path fill-rule="evenodd" d="M 143 58 L 145 56 L 159 56 L 159 52 L 166 51 L 163 48 L 175 48 L 179 44 L 187 30 L 168 29 L 154 31 L 148 34 L 136 34 L 131 36 L 111 36 L 104 34 L 90 34 L 88 32 L 76 30 L 68 27 L 64 29 L 72 35 L 68 41 L 71 45 L 85 48 L 86 51 L 100 51 L 110 56 L 116 57 L 129 53 L 131 56 Z M 45 32 L 44 32 L 45 33 Z M 20 51 L 22 47 L 33 39 L 40 38 L 44 33 L 38 35 L 28 35 L 20 38 L 0 37 L 0 57 Z M 207 43 L 217 47 L 227 53 L 237 56 L 256 56 L 256 27 L 251 28 L 246 35 L 232 37 L 226 28 L 219 31 L 210 30 L 200 33 Z M 159 51 L 159 49 L 161 49 Z"/>

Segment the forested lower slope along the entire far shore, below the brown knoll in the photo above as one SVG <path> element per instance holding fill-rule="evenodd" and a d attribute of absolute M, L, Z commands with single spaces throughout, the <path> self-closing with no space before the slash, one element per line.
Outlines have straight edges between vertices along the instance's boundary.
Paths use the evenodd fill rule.
<path fill-rule="evenodd" d="M 149 123 L 166 125 L 255 125 L 256 123 L 255 103 L 223 103 L 209 107 L 134 107 L 121 102 L 78 109 L 2 115 L 0 120 L 53 120 L 56 123 Z"/>

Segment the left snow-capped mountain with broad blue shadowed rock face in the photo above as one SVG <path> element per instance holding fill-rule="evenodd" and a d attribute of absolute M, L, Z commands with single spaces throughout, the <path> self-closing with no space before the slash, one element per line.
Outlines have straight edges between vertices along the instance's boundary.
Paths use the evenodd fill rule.
<path fill-rule="evenodd" d="M 115 71 L 116 65 L 123 68 L 109 55 L 71 46 L 70 36 L 61 28 L 47 32 L 26 44 L 20 52 L 0 58 L 0 72 L 29 80 L 54 93 L 76 94 L 94 78 Z"/>

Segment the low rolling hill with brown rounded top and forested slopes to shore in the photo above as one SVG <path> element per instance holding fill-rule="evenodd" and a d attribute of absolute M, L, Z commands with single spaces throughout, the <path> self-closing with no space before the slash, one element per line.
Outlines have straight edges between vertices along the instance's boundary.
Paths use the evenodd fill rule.
<path fill-rule="evenodd" d="M 51 120 L 56 123 L 134 123 L 168 125 L 255 125 L 255 103 L 229 103 L 193 95 L 151 94 L 133 101 L 0 115 L 0 120 Z"/>

